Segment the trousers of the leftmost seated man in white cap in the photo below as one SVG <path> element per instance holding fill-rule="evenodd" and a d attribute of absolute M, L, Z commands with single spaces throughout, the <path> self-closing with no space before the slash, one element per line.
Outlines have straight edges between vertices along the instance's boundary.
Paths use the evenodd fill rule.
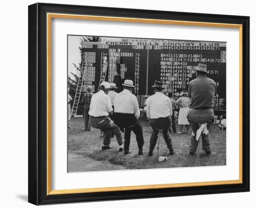
<path fill-rule="evenodd" d="M 118 145 L 121 146 L 123 144 L 120 128 L 116 126 L 115 123 L 112 120 L 110 120 L 108 116 L 102 116 L 99 118 L 94 118 L 90 116 L 90 123 L 92 127 L 99 128 L 101 129 L 101 131 L 104 132 L 103 145 L 110 144 L 112 131 L 116 136 Z"/>

